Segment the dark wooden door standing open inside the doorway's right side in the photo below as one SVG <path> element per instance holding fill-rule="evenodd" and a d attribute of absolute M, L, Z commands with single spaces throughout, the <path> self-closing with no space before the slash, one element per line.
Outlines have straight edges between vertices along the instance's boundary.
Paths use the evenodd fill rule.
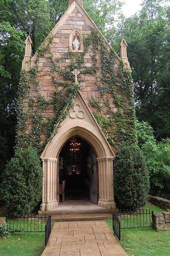
<path fill-rule="evenodd" d="M 98 175 L 97 175 L 97 159 L 93 148 L 90 146 L 90 157 L 93 159 L 93 172 L 90 179 L 90 202 L 98 203 Z"/>

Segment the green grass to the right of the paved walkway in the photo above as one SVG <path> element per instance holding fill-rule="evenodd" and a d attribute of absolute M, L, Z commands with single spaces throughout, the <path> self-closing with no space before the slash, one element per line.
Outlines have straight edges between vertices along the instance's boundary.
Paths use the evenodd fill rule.
<path fill-rule="evenodd" d="M 165 212 L 157 206 L 146 205 L 144 209 Z M 112 220 L 106 220 L 106 222 L 112 230 Z M 156 232 L 152 228 L 127 228 L 121 229 L 119 243 L 128 256 L 169 256 L 169 241 L 170 231 Z"/>

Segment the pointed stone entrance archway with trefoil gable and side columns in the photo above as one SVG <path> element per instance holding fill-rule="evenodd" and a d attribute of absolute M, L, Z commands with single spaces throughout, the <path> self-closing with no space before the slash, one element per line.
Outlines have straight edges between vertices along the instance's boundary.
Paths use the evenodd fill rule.
<path fill-rule="evenodd" d="M 81 107 L 83 118 L 79 115 L 71 115 L 74 105 Z M 42 210 L 53 210 L 58 206 L 57 202 L 57 156 L 62 146 L 73 136 L 80 136 L 85 139 L 97 155 L 99 172 L 99 201 L 98 205 L 107 209 L 116 208 L 113 194 L 113 160 L 115 155 L 85 104 L 81 94 L 74 100 L 69 116 L 63 121 L 61 127 L 53 139 L 47 143 L 41 159 L 43 161 L 43 191 L 42 191 Z M 80 113 L 80 110 L 79 112 Z"/>

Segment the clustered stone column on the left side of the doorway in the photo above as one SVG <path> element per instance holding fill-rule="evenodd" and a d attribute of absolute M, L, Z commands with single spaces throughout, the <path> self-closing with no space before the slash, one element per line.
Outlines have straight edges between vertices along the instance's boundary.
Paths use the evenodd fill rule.
<path fill-rule="evenodd" d="M 41 210 L 53 210 L 57 202 L 57 158 L 42 158 L 43 186 Z"/>

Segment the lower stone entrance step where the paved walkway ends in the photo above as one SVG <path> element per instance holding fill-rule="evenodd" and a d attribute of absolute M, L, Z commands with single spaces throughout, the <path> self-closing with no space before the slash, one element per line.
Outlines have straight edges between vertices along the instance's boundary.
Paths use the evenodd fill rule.
<path fill-rule="evenodd" d="M 83 220 L 111 220 L 111 213 L 87 214 L 57 214 L 51 215 L 52 221 L 83 221 Z"/>

